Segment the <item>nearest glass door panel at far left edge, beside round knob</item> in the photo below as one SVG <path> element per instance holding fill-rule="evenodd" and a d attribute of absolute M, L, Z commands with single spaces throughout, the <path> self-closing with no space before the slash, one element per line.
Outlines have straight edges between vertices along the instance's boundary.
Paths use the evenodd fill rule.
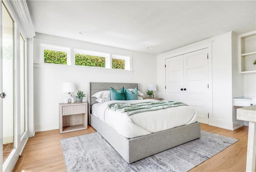
<path fill-rule="evenodd" d="M 2 3 L 2 115 L 3 115 L 3 164 L 10 162 L 16 140 L 14 138 L 15 90 L 14 79 L 14 20 Z"/>

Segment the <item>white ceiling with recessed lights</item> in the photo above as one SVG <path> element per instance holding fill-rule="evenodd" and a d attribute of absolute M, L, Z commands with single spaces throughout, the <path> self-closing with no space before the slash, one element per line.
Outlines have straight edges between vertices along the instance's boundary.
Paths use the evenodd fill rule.
<path fill-rule="evenodd" d="M 230 31 L 256 30 L 255 0 L 28 0 L 27 4 L 37 33 L 152 54 Z M 82 31 L 87 34 L 80 35 Z"/>

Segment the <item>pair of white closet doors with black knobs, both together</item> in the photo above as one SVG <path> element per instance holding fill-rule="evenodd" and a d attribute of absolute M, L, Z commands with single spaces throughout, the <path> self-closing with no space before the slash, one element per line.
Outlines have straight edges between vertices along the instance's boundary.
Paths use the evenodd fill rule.
<path fill-rule="evenodd" d="M 166 59 L 166 99 L 193 107 L 197 121 L 208 124 L 208 49 Z"/>

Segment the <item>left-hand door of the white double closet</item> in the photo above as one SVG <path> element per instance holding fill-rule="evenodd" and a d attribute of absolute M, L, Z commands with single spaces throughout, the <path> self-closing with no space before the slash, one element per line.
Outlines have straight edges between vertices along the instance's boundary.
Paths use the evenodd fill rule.
<path fill-rule="evenodd" d="M 166 64 L 166 99 L 184 102 L 183 55 L 168 58 Z"/>

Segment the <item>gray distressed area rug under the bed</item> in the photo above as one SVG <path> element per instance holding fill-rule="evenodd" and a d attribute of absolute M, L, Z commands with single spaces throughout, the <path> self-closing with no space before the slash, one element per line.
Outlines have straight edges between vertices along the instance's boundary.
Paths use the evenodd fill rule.
<path fill-rule="evenodd" d="M 237 139 L 201 130 L 201 138 L 128 164 L 98 133 L 61 140 L 67 172 L 186 172 Z"/>

